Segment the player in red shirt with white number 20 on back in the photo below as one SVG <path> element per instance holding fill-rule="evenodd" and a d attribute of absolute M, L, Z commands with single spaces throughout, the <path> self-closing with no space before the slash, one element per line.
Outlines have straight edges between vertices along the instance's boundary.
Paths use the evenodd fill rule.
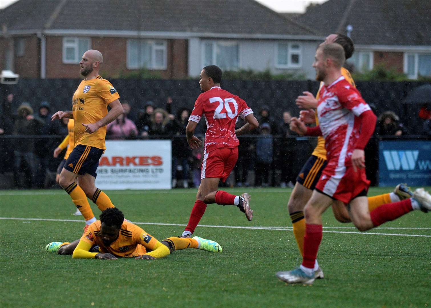
<path fill-rule="evenodd" d="M 200 147 L 202 141 L 194 136 L 194 130 L 203 116 L 206 121 L 205 149 L 201 165 L 201 182 L 197 190 L 196 202 L 182 237 L 190 237 L 205 212 L 206 205 L 237 205 L 251 221 L 248 193 L 234 196 L 219 188 L 220 179 L 224 182 L 238 159 L 239 141 L 236 136 L 245 134 L 259 126 L 253 111 L 238 96 L 220 87 L 222 70 L 215 65 L 205 66 L 200 72 L 201 93 L 194 103 L 186 127 L 187 142 L 192 149 Z M 238 116 L 247 121 L 235 130 Z"/>

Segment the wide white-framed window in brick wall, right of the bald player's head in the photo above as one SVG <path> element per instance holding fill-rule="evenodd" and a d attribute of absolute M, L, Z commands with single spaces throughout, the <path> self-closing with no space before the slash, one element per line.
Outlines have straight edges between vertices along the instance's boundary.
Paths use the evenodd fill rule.
<path fill-rule="evenodd" d="M 128 40 L 127 68 L 128 69 L 166 69 L 167 62 L 166 40 Z"/>

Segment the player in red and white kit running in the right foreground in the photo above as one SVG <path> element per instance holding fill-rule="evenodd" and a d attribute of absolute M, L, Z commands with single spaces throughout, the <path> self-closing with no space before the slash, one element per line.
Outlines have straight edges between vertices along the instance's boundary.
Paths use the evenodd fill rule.
<path fill-rule="evenodd" d="M 431 211 L 430 194 L 419 188 L 412 198 L 387 203 L 369 212 L 364 148 L 374 132 L 376 116 L 359 91 L 341 75 L 344 61 L 344 50 L 339 44 L 325 44 L 317 49 L 313 67 L 316 79 L 324 82 L 317 105 L 319 126 L 307 128 L 299 119 L 291 120 L 290 128 L 298 134 L 325 138 L 328 164 L 304 208 L 303 262 L 293 271 L 276 274 L 287 283 L 313 283 L 313 268 L 322 241 L 322 213 L 334 200 L 347 205 L 349 216 L 360 231 L 377 227 L 415 209 Z"/>

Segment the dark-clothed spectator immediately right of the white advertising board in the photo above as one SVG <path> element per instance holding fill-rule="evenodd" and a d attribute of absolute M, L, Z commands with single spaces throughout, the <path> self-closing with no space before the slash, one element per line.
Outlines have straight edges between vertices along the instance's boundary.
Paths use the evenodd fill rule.
<path fill-rule="evenodd" d="M 181 108 L 177 118 L 172 125 L 172 187 L 177 186 L 177 180 L 181 180 L 183 187 L 188 187 L 189 159 L 191 159 L 191 148 L 187 144 L 186 126 L 190 116 L 190 109 Z M 178 176 L 178 171 L 181 177 Z"/>

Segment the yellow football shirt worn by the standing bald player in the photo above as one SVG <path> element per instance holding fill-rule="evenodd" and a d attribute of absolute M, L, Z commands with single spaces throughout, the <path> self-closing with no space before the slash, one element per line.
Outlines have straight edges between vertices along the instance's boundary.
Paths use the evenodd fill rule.
<path fill-rule="evenodd" d="M 108 104 L 120 96 L 106 79 L 100 76 L 83 80 L 73 94 L 72 112 L 75 120 L 75 146 L 82 144 L 106 149 L 106 126 L 99 128 L 93 134 L 88 134 L 82 124 L 96 123 L 108 114 Z"/>

